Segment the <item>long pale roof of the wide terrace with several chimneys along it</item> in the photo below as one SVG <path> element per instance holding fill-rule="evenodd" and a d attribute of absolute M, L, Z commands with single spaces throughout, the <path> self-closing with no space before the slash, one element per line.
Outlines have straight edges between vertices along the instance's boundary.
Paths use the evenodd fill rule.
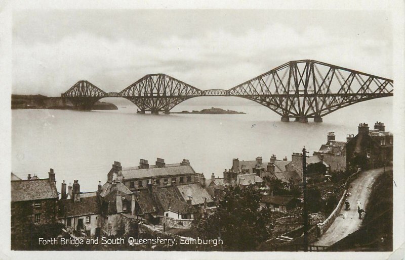
<path fill-rule="evenodd" d="M 125 179 L 148 178 L 155 176 L 195 174 L 194 169 L 189 165 L 169 164 L 166 167 L 139 169 L 139 167 L 123 168 L 122 174 Z"/>

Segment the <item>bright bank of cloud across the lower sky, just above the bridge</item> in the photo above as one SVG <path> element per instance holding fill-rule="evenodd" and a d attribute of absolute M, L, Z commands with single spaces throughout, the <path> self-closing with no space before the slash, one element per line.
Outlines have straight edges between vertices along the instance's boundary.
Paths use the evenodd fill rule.
<path fill-rule="evenodd" d="M 321 26 L 297 31 L 279 23 L 243 34 L 219 29 L 153 42 L 78 32 L 52 42 L 14 41 L 13 93 L 58 96 L 82 79 L 120 91 L 149 73 L 166 73 L 201 89 L 228 89 L 300 59 L 391 77 L 391 53 L 387 39 L 342 37 Z"/>

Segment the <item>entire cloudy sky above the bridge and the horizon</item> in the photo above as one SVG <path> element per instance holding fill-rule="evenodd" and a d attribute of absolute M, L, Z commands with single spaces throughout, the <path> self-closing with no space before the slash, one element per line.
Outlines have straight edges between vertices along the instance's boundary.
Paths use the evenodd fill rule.
<path fill-rule="evenodd" d="M 12 93 L 119 92 L 152 73 L 229 89 L 301 59 L 392 78 L 392 34 L 371 10 L 16 10 Z"/>

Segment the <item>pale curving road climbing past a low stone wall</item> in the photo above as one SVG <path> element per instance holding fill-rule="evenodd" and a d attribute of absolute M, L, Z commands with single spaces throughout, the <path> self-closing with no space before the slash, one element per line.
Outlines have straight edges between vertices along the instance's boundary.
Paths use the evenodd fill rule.
<path fill-rule="evenodd" d="M 392 167 L 385 167 L 385 170 L 391 170 Z M 371 193 L 371 187 L 373 186 L 376 178 L 384 172 L 384 168 L 378 168 L 361 172 L 357 179 L 351 182 L 348 191 L 351 192 L 351 196 L 347 197 L 350 202 L 350 210 L 345 211 L 344 204 L 340 214 L 329 229 L 314 242 L 314 245 L 330 246 L 341 240 L 342 238 L 353 233 L 361 227 L 362 219 L 358 218 L 357 213 L 357 199 L 361 202 L 361 209 L 365 210 L 369 196 Z M 363 213 L 364 216 L 364 213 Z"/>

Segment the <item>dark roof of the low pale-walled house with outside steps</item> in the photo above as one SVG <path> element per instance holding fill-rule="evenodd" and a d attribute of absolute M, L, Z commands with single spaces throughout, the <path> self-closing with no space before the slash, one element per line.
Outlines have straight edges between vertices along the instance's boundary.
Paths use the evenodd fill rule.
<path fill-rule="evenodd" d="M 73 199 L 61 199 L 57 201 L 58 218 L 71 218 L 76 216 L 94 215 L 100 213 L 100 204 L 97 196 Z"/>

